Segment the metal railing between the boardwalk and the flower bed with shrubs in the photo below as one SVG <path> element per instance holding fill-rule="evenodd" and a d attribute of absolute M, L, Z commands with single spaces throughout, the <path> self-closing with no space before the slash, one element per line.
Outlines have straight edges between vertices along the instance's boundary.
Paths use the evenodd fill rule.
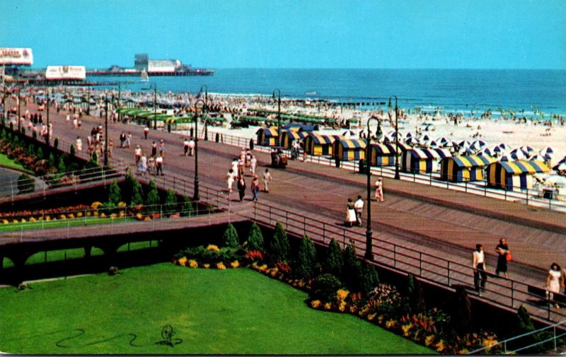
<path fill-rule="evenodd" d="M 351 242 L 359 257 L 363 257 L 365 253 L 366 237 L 364 233 L 287 211 L 282 207 L 256 203 L 253 220 L 271 226 L 278 222 L 282 223 L 289 233 L 299 236 L 308 235 L 313 241 L 323 245 L 328 245 L 332 238 L 342 243 L 343 246 Z M 398 233 L 401 238 L 402 235 L 403 233 Z M 427 252 L 426 247 L 420 247 L 418 250 L 412 249 L 407 247 L 406 242 L 401 241 L 395 243 L 374 237 L 371 245 L 374 254 L 373 264 L 379 267 L 403 274 L 410 273 L 424 281 L 448 289 L 454 289 L 456 286 L 473 288 L 473 269 L 469 263 L 439 257 L 438 252 L 434 252 L 433 249 Z M 538 295 L 529 293 L 531 284 L 526 282 L 528 279 L 497 279 L 497 275 L 490 273 L 488 276 L 492 279 L 489 279 L 486 293 L 482 296 L 483 300 L 510 310 L 518 308 L 521 304 L 527 304 L 532 307 L 532 315 L 546 321 L 566 317 L 566 312 L 551 309 L 548 304 L 545 308 L 538 308 L 536 303 L 542 299 Z M 533 281 L 532 284 L 542 283 Z"/>

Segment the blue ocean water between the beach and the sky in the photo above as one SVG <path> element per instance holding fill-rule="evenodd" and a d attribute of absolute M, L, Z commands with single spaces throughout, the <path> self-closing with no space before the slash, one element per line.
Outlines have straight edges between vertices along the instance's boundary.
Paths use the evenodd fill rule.
<path fill-rule="evenodd" d="M 132 91 L 149 87 L 136 77 L 88 79 L 120 81 L 122 88 Z M 441 112 L 468 115 L 471 110 L 497 113 L 502 108 L 516 115 L 524 110 L 527 116 L 541 110 L 546 119 L 550 114 L 566 114 L 566 70 L 216 69 L 213 76 L 150 77 L 150 81 L 160 93 L 196 93 L 202 85 L 209 93 L 272 95 L 279 89 L 283 98 L 366 103 L 361 109 L 374 107 L 367 103 L 387 105 L 388 98 L 396 95 L 398 106 L 405 109 L 440 107 Z"/>

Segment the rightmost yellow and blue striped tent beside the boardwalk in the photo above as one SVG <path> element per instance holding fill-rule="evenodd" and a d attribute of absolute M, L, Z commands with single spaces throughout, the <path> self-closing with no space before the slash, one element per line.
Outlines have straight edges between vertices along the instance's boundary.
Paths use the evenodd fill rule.
<path fill-rule="evenodd" d="M 548 171 L 548 166 L 538 160 L 499 161 L 487 167 L 487 186 L 507 191 L 531 189 L 533 173 Z"/>

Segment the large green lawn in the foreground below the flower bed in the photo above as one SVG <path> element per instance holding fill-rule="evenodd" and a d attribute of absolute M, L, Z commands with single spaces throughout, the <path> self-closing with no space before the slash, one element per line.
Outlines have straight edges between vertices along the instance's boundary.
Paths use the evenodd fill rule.
<path fill-rule="evenodd" d="M 30 286 L 0 289 L 0 351 L 433 353 L 352 315 L 312 310 L 306 293 L 245 268 L 163 263 Z"/>

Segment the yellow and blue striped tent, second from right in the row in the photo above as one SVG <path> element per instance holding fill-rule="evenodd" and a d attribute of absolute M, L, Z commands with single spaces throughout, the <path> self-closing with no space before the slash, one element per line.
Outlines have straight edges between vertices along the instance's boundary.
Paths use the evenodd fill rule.
<path fill-rule="evenodd" d="M 451 182 L 483 180 L 483 169 L 495 161 L 487 155 L 445 157 L 440 161 L 440 179 Z"/>

